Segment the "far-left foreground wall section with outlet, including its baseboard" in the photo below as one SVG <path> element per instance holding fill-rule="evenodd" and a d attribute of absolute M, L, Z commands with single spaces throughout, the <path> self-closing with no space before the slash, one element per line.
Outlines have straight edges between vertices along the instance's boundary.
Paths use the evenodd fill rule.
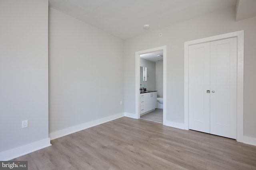
<path fill-rule="evenodd" d="M 0 23 L 0 160 L 8 160 L 50 145 L 48 0 L 1 0 Z"/>

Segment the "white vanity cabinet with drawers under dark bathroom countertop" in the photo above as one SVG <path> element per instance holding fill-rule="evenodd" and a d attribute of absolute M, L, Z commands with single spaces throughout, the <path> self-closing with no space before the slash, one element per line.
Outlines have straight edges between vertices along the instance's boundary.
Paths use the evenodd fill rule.
<path fill-rule="evenodd" d="M 140 115 L 156 109 L 156 92 L 140 94 Z"/>

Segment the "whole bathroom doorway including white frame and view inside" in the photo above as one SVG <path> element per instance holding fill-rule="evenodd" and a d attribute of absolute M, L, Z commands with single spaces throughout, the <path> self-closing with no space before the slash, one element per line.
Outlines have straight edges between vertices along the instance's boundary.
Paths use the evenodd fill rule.
<path fill-rule="evenodd" d="M 166 46 L 136 52 L 136 115 L 165 124 Z"/>

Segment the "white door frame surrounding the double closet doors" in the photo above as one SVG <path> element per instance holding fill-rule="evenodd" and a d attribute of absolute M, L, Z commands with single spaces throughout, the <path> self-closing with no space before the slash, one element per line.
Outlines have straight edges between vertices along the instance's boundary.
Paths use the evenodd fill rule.
<path fill-rule="evenodd" d="M 188 47 L 237 37 L 236 141 L 244 142 L 244 30 L 184 42 L 184 129 L 188 130 Z"/>

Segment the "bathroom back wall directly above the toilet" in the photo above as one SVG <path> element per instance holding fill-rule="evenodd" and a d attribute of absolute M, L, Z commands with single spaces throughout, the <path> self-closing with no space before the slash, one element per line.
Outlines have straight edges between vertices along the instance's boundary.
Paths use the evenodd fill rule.
<path fill-rule="evenodd" d="M 163 88 L 164 88 L 164 62 L 156 62 L 156 90 L 157 97 L 163 98 Z"/>

